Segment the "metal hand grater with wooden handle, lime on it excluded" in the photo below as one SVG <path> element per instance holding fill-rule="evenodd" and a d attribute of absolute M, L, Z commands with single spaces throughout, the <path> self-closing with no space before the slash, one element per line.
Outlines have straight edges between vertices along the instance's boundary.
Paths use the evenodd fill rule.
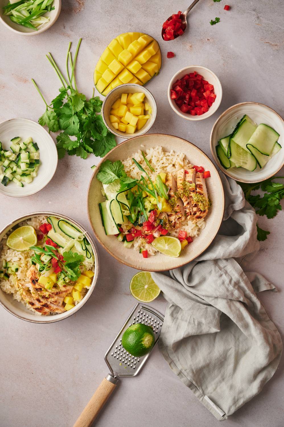
<path fill-rule="evenodd" d="M 110 374 L 102 380 L 73 427 L 90 427 L 105 402 L 114 391 L 119 377 L 134 377 L 146 363 L 152 350 L 142 357 L 134 357 L 129 354 L 121 344 L 124 331 L 135 323 L 143 323 L 151 326 L 155 334 L 154 348 L 161 334 L 163 322 L 164 316 L 157 310 L 141 303 L 135 305 L 129 318 L 105 353 L 105 362 L 108 365 Z"/>

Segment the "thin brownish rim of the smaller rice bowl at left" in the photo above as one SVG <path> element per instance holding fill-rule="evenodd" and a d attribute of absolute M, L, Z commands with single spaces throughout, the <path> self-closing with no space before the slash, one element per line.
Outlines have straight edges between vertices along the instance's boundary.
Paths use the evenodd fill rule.
<path fill-rule="evenodd" d="M 71 310 L 66 311 L 64 314 L 65 316 L 62 317 L 61 319 L 54 319 L 54 315 L 49 315 L 49 316 L 36 316 L 35 315 L 35 320 L 31 320 L 31 319 L 26 319 L 23 316 L 20 316 L 16 313 L 13 313 L 9 307 L 7 307 L 0 299 L 0 305 L 5 308 L 5 310 L 8 311 L 8 313 L 12 314 L 15 317 L 18 317 L 18 319 L 21 320 L 25 320 L 26 322 L 31 322 L 31 323 L 54 323 L 54 322 L 59 322 L 60 320 L 64 320 L 67 319 L 67 317 L 72 316 L 72 314 L 76 313 L 78 310 L 80 310 L 81 307 L 83 307 L 83 305 L 88 301 L 88 299 L 91 297 L 92 293 L 94 292 L 94 289 L 97 285 L 97 280 L 99 277 L 99 273 L 100 273 L 100 262 L 99 262 L 99 256 L 98 256 L 98 252 L 97 252 L 97 248 L 95 246 L 94 241 L 92 240 L 90 234 L 88 234 L 88 231 L 85 230 L 85 228 L 77 221 L 74 221 L 74 219 L 70 218 L 67 215 L 63 215 L 63 214 L 59 214 L 56 212 L 50 212 L 50 211 L 38 211 L 38 212 L 32 212 L 32 213 L 26 213 L 23 215 L 18 216 L 17 218 L 13 219 L 13 221 L 10 221 L 7 225 L 5 225 L 5 227 L 3 227 L 0 230 L 0 234 L 3 233 L 3 231 L 9 227 L 9 229 L 11 229 L 13 227 L 13 225 L 15 225 L 15 222 L 20 222 L 21 220 L 25 220 L 24 218 L 30 218 L 32 216 L 39 216 L 39 215 L 53 215 L 53 216 L 57 216 L 57 217 L 61 217 L 64 219 L 67 219 L 68 221 L 72 222 L 74 225 L 76 225 L 78 228 L 81 228 L 84 232 L 85 232 L 85 236 L 88 238 L 89 242 L 91 243 L 92 249 L 93 249 L 93 253 L 94 253 L 94 265 L 95 265 L 95 274 L 91 283 L 91 288 L 88 290 L 87 294 L 84 296 L 84 298 L 82 299 L 82 301 L 79 302 L 79 304 L 77 304 L 75 307 L 73 307 Z M 0 240 L 1 243 L 2 239 Z M 4 291 L 2 291 L 4 292 Z M 19 304 L 21 304 L 20 301 Z M 81 304 L 82 303 L 82 304 Z M 31 312 L 32 313 L 32 312 Z M 33 313 L 34 314 L 34 313 Z M 38 319 L 37 319 L 38 318 Z M 47 319 L 47 320 L 41 320 L 41 319 Z"/>

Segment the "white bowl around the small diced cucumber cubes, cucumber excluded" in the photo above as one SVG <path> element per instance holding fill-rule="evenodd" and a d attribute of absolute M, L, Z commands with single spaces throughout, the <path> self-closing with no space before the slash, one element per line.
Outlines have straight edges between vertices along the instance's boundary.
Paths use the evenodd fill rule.
<path fill-rule="evenodd" d="M 9 149 L 11 139 L 19 136 L 22 140 L 32 137 L 38 144 L 40 153 L 40 167 L 38 175 L 29 184 L 19 187 L 12 181 L 4 187 L 0 183 L 0 193 L 5 196 L 24 197 L 31 196 L 42 190 L 55 174 L 58 154 L 56 145 L 49 133 L 39 124 L 29 119 L 10 119 L 0 123 L 0 141 L 4 149 Z M 3 170 L 3 168 L 0 168 Z"/>

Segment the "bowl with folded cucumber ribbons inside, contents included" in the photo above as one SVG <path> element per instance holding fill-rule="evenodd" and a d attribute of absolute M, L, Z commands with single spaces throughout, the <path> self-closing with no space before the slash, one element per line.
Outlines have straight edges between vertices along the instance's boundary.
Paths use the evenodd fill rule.
<path fill-rule="evenodd" d="M 258 102 L 242 102 L 221 114 L 211 131 L 213 158 L 230 178 L 260 182 L 284 166 L 284 120 Z M 283 148 L 282 148 L 283 147 Z"/>

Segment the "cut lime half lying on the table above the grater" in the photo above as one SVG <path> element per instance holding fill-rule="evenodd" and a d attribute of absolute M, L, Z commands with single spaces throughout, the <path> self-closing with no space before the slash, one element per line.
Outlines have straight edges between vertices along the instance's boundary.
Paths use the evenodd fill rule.
<path fill-rule="evenodd" d="M 157 298 L 161 290 L 153 281 L 149 271 L 141 271 L 132 277 L 130 292 L 138 301 L 150 302 Z"/>

